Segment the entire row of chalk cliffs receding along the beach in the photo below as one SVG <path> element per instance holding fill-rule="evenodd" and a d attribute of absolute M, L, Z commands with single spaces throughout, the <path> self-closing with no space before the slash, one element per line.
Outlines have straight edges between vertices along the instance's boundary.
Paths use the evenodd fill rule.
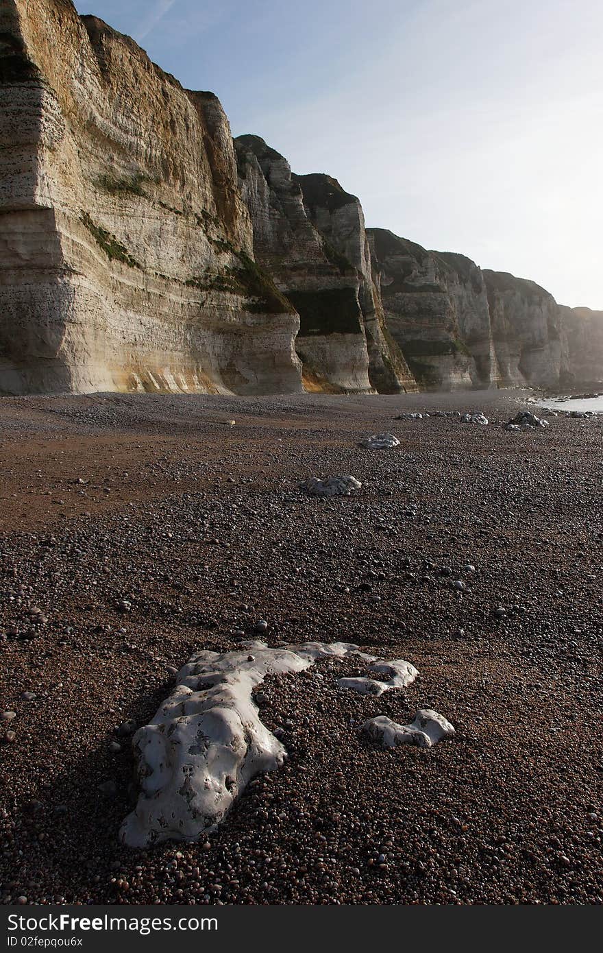
<path fill-rule="evenodd" d="M 0 394 L 603 377 L 602 313 L 366 229 L 70 0 L 0 3 Z"/>

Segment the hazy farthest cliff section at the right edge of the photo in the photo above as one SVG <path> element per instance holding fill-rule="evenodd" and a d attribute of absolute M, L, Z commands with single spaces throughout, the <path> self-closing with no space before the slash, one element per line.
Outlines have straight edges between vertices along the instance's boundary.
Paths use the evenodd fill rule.
<path fill-rule="evenodd" d="M 561 308 L 561 318 L 567 341 L 565 382 L 603 383 L 603 311 Z"/>

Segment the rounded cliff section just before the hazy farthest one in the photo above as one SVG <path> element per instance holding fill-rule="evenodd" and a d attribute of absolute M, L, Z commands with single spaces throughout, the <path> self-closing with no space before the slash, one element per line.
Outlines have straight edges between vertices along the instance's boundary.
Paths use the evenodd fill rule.
<path fill-rule="evenodd" d="M 568 371 L 562 314 L 552 294 L 533 281 L 483 272 L 501 385 L 553 387 Z"/>

